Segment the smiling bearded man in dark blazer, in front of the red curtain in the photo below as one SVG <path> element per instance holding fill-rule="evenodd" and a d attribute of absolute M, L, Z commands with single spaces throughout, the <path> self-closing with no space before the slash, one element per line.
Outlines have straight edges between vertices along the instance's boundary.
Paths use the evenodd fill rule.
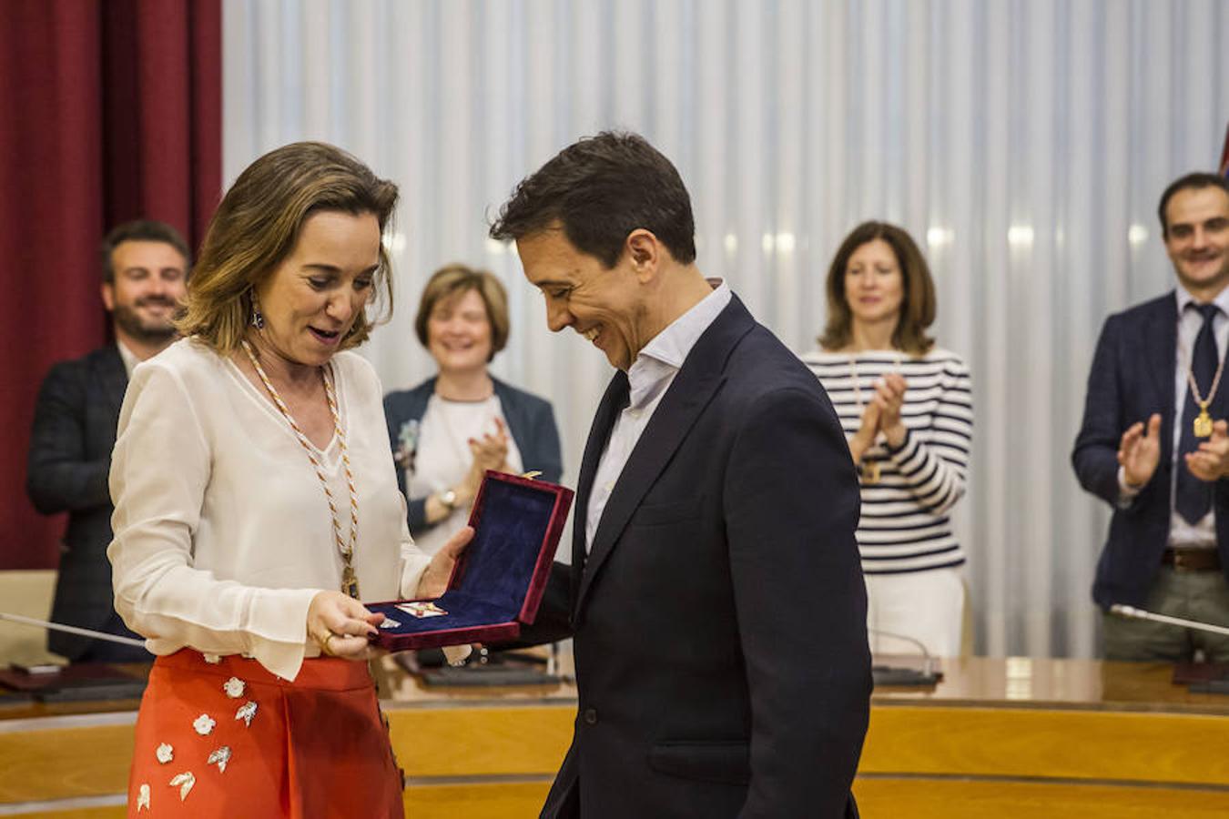
<path fill-rule="evenodd" d="M 103 239 L 101 257 L 102 301 L 116 343 L 54 365 L 43 379 L 26 492 L 44 514 L 69 513 L 52 620 L 138 637 L 112 607 L 107 473 L 132 368 L 175 339 L 172 318 L 184 295 L 189 257 L 178 232 L 154 221 L 114 228 Z M 60 631 L 48 632 L 47 647 L 74 662 L 150 658 L 143 648 Z"/>

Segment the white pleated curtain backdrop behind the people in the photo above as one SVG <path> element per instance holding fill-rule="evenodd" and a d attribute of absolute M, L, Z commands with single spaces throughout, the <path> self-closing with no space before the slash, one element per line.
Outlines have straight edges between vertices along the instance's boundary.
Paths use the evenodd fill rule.
<path fill-rule="evenodd" d="M 1107 512 L 1068 454 L 1104 317 L 1171 286 L 1161 189 L 1219 158 L 1229 2 L 225 0 L 224 22 L 227 183 L 300 139 L 395 179 L 398 309 L 365 354 L 386 388 L 426 377 L 425 278 L 490 268 L 512 309 L 494 371 L 554 403 L 569 483 L 611 371 L 546 330 L 485 238 L 521 177 L 581 135 L 643 133 L 691 189 L 701 269 L 798 350 L 844 233 L 906 226 L 975 379 L 977 647 L 1095 654 Z"/>

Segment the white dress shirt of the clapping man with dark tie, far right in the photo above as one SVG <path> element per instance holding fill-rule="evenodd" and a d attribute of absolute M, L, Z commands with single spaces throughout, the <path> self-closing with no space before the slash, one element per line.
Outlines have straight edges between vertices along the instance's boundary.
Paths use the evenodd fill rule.
<path fill-rule="evenodd" d="M 1182 441 L 1182 410 L 1186 406 L 1186 393 L 1191 389 L 1186 379 L 1187 370 L 1191 367 L 1191 351 L 1195 350 L 1195 340 L 1203 327 L 1203 318 L 1198 311 L 1186 309 L 1187 305 L 1195 303 L 1195 297 L 1181 285 L 1177 287 L 1177 351 L 1175 352 L 1174 368 L 1174 448 L 1170 465 L 1169 486 L 1169 546 L 1170 548 L 1206 548 L 1217 546 L 1217 519 L 1215 507 L 1208 511 L 1198 523 L 1191 523 L 1177 512 L 1177 470 L 1186 469 L 1186 462 L 1179 453 Z M 1225 343 L 1229 341 L 1229 287 L 1225 287 L 1212 303 L 1220 308 L 1220 312 L 1212 319 L 1212 334 L 1217 341 L 1217 357 L 1224 360 Z M 1222 376 L 1223 377 L 1223 376 Z M 1200 384 L 1204 393 L 1211 390 L 1212 384 Z M 1147 424 L 1147 419 L 1144 419 Z M 1127 484 L 1126 473 L 1118 468 L 1118 505 L 1129 506 L 1141 489 L 1134 489 Z"/>

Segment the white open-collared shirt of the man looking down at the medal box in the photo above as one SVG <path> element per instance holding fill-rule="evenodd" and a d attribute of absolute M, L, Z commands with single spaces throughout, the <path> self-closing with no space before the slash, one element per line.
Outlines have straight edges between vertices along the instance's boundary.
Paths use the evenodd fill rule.
<path fill-rule="evenodd" d="M 606 441 L 606 448 L 597 462 L 594 487 L 589 494 L 589 514 L 585 521 L 585 551 L 592 546 L 597 524 L 606 511 L 614 484 L 623 474 L 632 449 L 649 425 L 649 419 L 670 389 L 675 376 L 687 360 L 696 341 L 730 303 L 730 287 L 719 279 L 709 279 L 713 292 L 699 300 L 691 309 L 658 333 L 627 371 L 629 388 L 628 406 L 614 419 L 614 427 Z"/>

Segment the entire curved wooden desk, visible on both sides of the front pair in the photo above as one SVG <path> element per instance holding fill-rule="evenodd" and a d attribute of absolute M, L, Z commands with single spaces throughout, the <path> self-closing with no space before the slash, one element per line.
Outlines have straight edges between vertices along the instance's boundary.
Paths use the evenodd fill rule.
<path fill-rule="evenodd" d="M 854 790 L 864 817 L 1229 815 L 1229 696 L 1168 666 L 968 658 L 934 690 L 880 690 Z M 430 690 L 391 672 L 393 747 L 414 817 L 537 815 L 575 690 Z M 122 817 L 133 702 L 0 702 L 0 810 Z"/>

